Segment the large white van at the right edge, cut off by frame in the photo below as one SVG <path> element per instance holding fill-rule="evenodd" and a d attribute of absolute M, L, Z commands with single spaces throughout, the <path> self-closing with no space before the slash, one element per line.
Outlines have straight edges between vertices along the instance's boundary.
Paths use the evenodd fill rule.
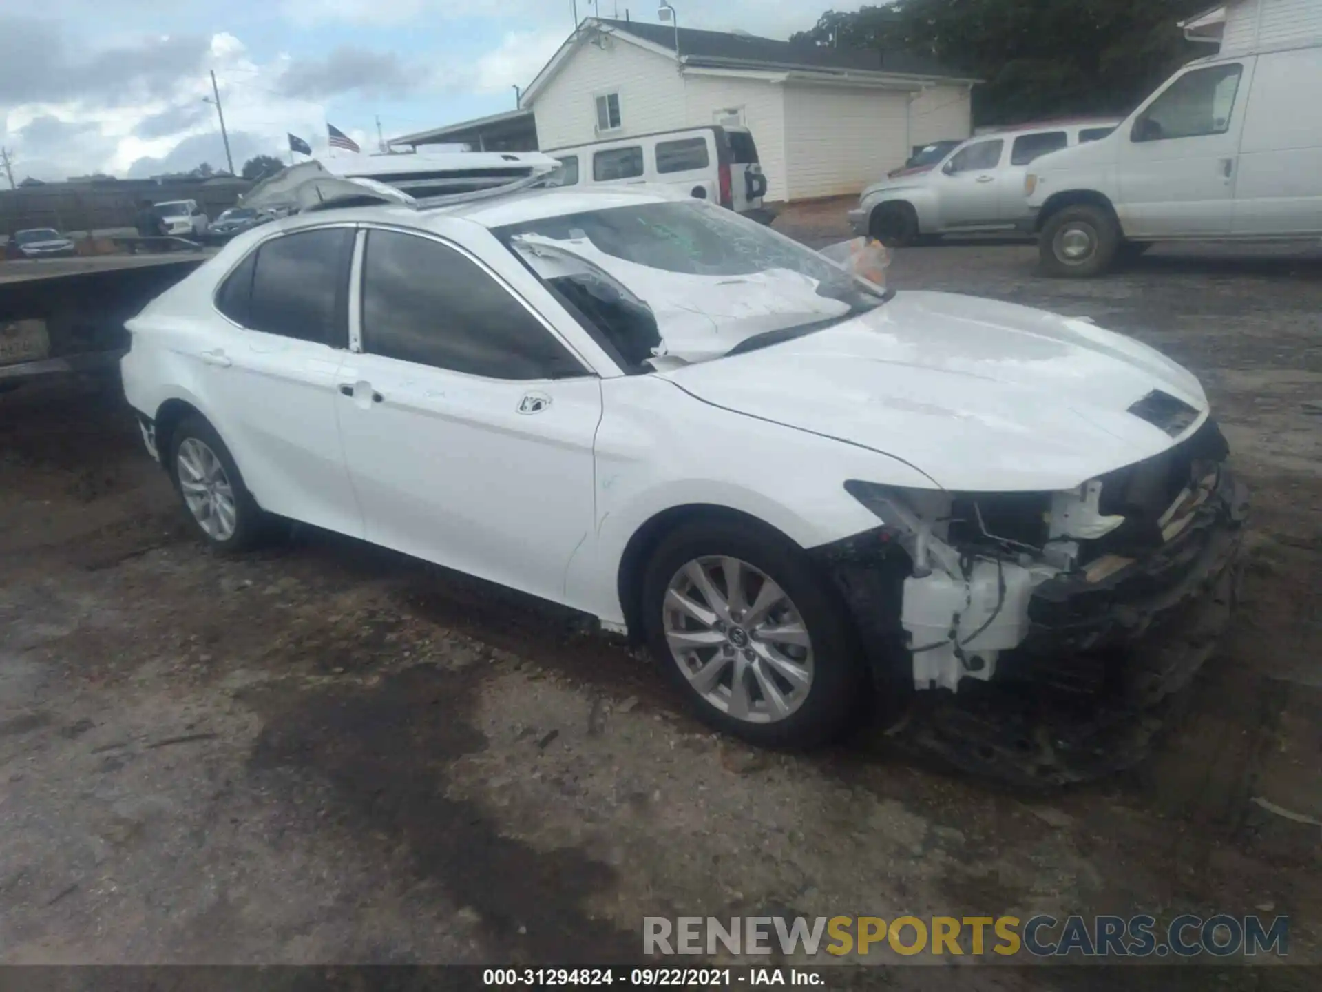
<path fill-rule="evenodd" d="M 1200 58 L 1100 142 L 1025 177 L 1043 269 L 1089 276 L 1154 241 L 1322 237 L 1322 46 Z"/>

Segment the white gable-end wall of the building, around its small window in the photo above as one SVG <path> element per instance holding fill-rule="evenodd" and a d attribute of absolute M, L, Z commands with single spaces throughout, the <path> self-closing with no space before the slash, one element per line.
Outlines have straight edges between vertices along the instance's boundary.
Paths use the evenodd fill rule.
<path fill-rule="evenodd" d="M 620 128 L 600 135 L 595 94 L 611 90 L 620 93 Z M 566 60 L 537 95 L 533 116 L 543 149 L 687 124 L 683 82 L 674 60 L 609 37 L 604 49 L 584 44 Z"/>

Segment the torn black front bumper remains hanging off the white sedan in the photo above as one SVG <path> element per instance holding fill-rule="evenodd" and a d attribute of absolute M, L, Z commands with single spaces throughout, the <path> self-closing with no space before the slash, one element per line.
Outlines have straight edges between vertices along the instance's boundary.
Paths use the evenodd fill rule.
<path fill-rule="evenodd" d="M 1001 657 L 995 681 L 916 693 L 896 739 L 1027 787 L 1142 761 L 1229 624 L 1247 509 L 1223 470 L 1214 499 L 1155 554 L 1101 581 L 1043 583 L 1029 636 Z"/>

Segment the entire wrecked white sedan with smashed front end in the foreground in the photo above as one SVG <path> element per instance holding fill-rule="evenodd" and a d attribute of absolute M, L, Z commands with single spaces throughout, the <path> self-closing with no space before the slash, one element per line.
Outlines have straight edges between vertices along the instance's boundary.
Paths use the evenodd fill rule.
<path fill-rule="evenodd" d="M 1097 746 L 1069 734 L 1178 688 L 1233 598 L 1245 500 L 1188 372 L 702 201 L 292 217 L 130 329 L 128 399 L 213 545 L 293 518 L 563 603 L 758 743 L 977 700 L 927 739 L 1068 778 Z"/>

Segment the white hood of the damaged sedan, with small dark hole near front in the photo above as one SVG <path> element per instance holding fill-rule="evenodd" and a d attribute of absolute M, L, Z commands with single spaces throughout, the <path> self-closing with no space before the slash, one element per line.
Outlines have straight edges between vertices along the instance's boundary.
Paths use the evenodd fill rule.
<path fill-rule="evenodd" d="M 943 292 L 899 292 L 836 327 L 665 377 L 903 459 L 951 491 L 1069 489 L 1159 454 L 1178 439 L 1128 411 L 1154 389 L 1199 411 L 1186 435 L 1207 411 L 1198 380 L 1138 341 Z"/>

